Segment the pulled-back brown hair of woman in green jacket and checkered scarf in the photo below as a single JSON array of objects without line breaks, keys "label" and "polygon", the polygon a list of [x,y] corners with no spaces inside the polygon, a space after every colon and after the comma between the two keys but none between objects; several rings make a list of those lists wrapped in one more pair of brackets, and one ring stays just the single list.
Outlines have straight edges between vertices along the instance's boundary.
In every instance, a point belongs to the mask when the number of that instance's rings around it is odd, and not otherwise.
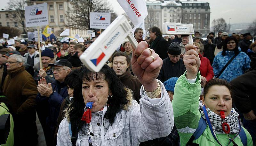
[{"label": "pulled-back brown hair of woman in green jacket and checkered scarf", "polygon": [[230,92],[230,95],[232,97],[232,89],[231,89],[231,84],[226,81],[226,80],[222,80],[222,79],[218,79],[218,78],[215,78],[215,79],[212,79],[212,80],[209,80],[206,85],[204,86],[204,97],[205,95],[208,93],[210,87],[214,86],[214,85],[218,85],[218,86],[225,86],[228,88],[229,92]]}]

